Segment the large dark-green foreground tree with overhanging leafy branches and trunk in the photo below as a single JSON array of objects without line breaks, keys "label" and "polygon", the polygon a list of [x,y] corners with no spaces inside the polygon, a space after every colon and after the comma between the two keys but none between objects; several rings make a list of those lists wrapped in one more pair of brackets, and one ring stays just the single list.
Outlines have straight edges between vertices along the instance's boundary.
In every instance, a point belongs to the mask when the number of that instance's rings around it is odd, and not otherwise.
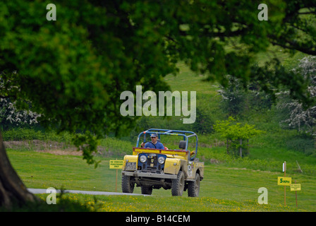
[{"label": "large dark-green foreground tree with overhanging leafy branches and trunk", "polygon": [[[0,97],[20,109],[32,102],[47,127],[85,131],[75,144],[88,163],[97,138],[137,119],[121,116],[121,92],[168,90],[162,78],[176,73],[177,61],[209,81],[225,84],[226,74],[244,83],[271,80],[309,101],[302,79],[279,61],[252,65],[269,44],[316,54],[315,29],[303,18],[315,22],[312,0],[267,1],[268,21],[257,19],[260,1],[54,1],[56,20],[47,20],[46,4],[0,2]],[[13,172],[0,139],[0,205],[34,199]]]}]

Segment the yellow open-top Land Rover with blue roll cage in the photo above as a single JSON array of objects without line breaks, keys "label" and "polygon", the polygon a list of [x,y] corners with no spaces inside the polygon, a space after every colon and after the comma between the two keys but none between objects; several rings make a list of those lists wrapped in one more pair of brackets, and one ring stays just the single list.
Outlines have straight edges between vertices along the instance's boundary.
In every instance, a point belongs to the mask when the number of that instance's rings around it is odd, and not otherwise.
[{"label": "yellow open-top Land Rover with blue roll cage", "polygon": [[[156,133],[158,141],[162,136],[178,136],[179,149],[166,150],[141,148],[140,137],[146,143],[146,136]],[[195,150],[188,150],[188,142],[195,138]],[[180,141],[181,140],[181,141]],[[172,196],[195,197],[200,192],[200,181],[204,177],[204,162],[197,155],[197,135],[192,131],[148,129],[138,135],[133,155],[125,155],[122,170],[122,191],[133,193],[134,186],[140,186],[142,194],[152,194],[152,189],[171,189]],[[163,142],[162,142],[163,143]]]}]

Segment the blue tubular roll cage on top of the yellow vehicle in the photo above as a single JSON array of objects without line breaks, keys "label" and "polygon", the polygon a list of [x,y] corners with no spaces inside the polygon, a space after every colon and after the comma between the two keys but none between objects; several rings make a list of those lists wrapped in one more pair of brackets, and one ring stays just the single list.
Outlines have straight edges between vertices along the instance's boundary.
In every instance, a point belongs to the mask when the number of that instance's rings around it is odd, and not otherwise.
[{"label": "blue tubular roll cage on top of the yellow vehicle", "polygon": [[138,148],[138,145],[140,144],[140,136],[144,135],[143,142],[144,143],[146,142],[147,133],[149,133],[149,134],[156,133],[158,135],[159,139],[160,139],[161,135],[182,136],[183,141],[186,141],[186,148],[185,148],[186,151],[188,151],[188,138],[195,136],[195,138],[196,138],[195,154],[192,157],[190,157],[190,160],[194,160],[195,156],[197,155],[198,138],[197,138],[197,135],[192,131],[181,131],[181,130],[171,130],[171,129],[147,129],[146,131],[142,131],[141,133],[138,134],[136,148]]}]

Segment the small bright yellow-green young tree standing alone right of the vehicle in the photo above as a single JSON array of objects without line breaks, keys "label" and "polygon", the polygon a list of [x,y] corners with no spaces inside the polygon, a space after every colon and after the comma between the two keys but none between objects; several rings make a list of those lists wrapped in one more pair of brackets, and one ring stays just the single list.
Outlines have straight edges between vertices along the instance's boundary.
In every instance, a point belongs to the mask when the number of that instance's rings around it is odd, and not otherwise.
[{"label": "small bright yellow-green young tree standing alone right of the vehicle", "polygon": [[232,155],[239,155],[240,157],[245,155],[243,149],[248,150],[249,139],[263,133],[263,131],[255,129],[254,125],[242,125],[241,123],[237,123],[233,117],[229,117],[227,120],[217,121],[217,123],[214,124],[214,130],[226,140],[227,154],[229,154],[229,150],[231,150]]}]

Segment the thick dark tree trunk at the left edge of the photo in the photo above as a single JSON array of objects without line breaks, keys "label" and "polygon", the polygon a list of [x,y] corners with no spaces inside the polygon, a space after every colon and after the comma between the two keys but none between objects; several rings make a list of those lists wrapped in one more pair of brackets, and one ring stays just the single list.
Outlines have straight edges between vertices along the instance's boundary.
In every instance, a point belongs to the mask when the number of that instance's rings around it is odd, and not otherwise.
[{"label": "thick dark tree trunk at the left edge of the photo", "polygon": [[0,131],[0,206],[10,208],[13,202],[23,205],[26,201],[35,201],[35,199],[8,160]]}]

